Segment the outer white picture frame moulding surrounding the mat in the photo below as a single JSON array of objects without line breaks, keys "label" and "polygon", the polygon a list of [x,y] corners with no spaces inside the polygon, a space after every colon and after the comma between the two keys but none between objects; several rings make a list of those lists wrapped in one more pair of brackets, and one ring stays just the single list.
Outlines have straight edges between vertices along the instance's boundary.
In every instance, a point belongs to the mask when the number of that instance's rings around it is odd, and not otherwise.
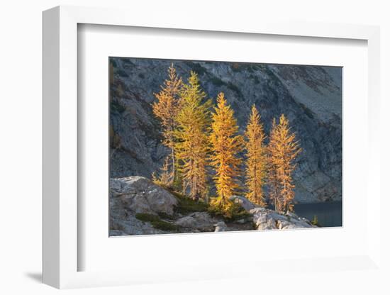
[{"label": "outer white picture frame moulding surrounding the mat", "polygon": [[[340,269],[379,269],[380,271],[380,191],[379,191],[379,28],[375,26],[332,23],[270,23],[245,21],[232,23],[228,19],[199,22],[195,16],[186,16],[167,24],[166,16],[153,13],[145,18],[143,13],[131,13],[122,9],[97,9],[76,6],[58,6],[43,13],[43,282],[57,288],[84,286],[111,286],[140,282],[171,282],[188,279],[218,279],[250,275],[250,270],[274,269],[285,264],[270,257],[264,260],[234,262],[226,272],[226,265],[191,265],[180,272],[166,271],[157,265],[153,272],[145,267],[126,270],[79,271],[78,260],[82,249],[78,247],[77,179],[78,120],[77,109],[77,26],[81,23],[109,26],[166,28],[235,32],[267,35],[291,35],[310,38],[342,38],[367,41],[368,46],[368,152],[367,191],[367,247],[360,255],[339,257],[296,257],[286,269],[301,271],[316,263],[329,271]],[[102,217],[104,218],[104,217]],[[196,235],[195,235],[196,236]],[[107,237],[108,238],[108,237]],[[340,267],[342,265],[342,267]],[[160,274],[160,275],[158,275]],[[197,274],[197,275],[194,275]]]}]

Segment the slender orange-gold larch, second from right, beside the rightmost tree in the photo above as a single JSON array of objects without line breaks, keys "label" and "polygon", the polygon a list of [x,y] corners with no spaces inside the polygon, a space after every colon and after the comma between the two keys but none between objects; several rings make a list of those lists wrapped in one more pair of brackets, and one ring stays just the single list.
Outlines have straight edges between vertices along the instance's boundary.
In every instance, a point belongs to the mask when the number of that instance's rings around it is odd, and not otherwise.
[{"label": "slender orange-gold larch, second from right, beside the rightmost tree", "polygon": [[264,139],[264,128],[260,121],[260,114],[255,105],[253,105],[245,130],[245,149],[247,157],[245,184],[247,186],[247,199],[260,206],[266,206],[262,189],[267,167]]}]

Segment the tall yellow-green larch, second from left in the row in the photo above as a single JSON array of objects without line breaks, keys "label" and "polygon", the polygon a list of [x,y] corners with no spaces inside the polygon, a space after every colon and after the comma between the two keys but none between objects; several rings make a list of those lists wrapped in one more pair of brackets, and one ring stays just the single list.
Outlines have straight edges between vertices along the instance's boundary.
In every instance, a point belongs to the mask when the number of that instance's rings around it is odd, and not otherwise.
[{"label": "tall yellow-green larch, second from left in the row", "polygon": [[201,89],[198,75],[190,73],[180,91],[181,108],[177,114],[175,149],[182,177],[182,190],[191,199],[205,199],[208,165],[208,132],[211,100]]}]

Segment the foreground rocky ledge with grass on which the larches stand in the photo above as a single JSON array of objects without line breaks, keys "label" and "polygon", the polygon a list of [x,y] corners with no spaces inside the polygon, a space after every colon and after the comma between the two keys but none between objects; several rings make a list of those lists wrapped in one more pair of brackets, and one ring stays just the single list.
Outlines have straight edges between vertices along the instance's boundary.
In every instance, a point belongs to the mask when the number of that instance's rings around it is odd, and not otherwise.
[{"label": "foreground rocky ledge with grass on which the larches stand", "polygon": [[208,213],[206,204],[171,194],[145,177],[111,179],[109,235],[314,227],[305,218],[257,207],[242,196],[233,196],[232,200],[243,208],[243,213],[226,221]]}]

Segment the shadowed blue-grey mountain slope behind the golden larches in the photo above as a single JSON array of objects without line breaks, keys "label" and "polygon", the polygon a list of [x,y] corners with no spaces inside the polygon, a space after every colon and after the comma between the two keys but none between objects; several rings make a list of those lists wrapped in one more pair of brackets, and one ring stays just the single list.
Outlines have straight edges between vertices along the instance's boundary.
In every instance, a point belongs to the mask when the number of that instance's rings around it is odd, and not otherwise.
[{"label": "shadowed blue-grey mountain slope behind the golden larches", "polygon": [[303,152],[294,173],[296,201],[341,199],[341,68],[189,62],[111,57],[111,177],[150,177],[167,155],[152,114],[154,92],[174,63],[184,81],[193,70],[212,99],[225,92],[243,132],[255,104],[266,132],[286,115]]}]

